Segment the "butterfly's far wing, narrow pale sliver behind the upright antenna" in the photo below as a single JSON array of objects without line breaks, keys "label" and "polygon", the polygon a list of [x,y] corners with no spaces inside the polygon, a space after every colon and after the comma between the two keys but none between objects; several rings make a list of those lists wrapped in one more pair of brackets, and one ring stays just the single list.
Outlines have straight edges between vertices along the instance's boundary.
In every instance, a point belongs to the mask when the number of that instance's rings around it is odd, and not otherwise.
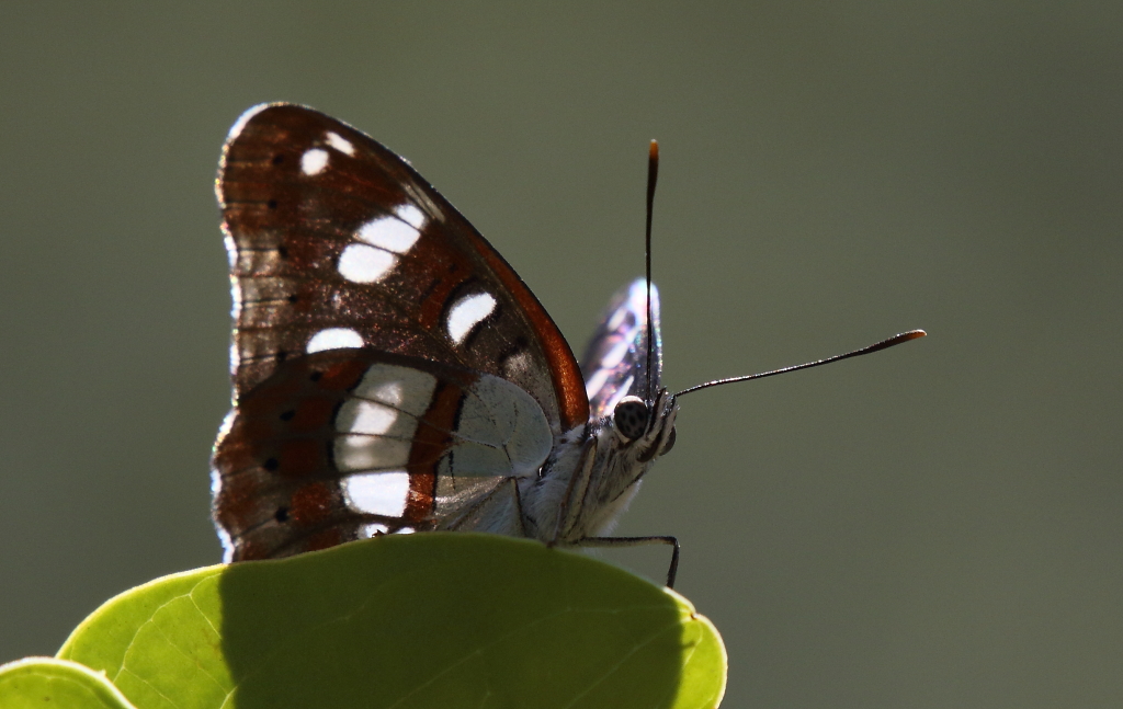
[{"label": "butterfly's far wing, narrow pale sliver behind the upright antenna", "polygon": [[582,359],[585,390],[593,417],[609,416],[626,396],[651,402],[663,374],[663,338],[659,334],[659,291],[651,284],[655,349],[651,377],[647,377],[647,280],[637,278],[609,302],[601,324]]}]

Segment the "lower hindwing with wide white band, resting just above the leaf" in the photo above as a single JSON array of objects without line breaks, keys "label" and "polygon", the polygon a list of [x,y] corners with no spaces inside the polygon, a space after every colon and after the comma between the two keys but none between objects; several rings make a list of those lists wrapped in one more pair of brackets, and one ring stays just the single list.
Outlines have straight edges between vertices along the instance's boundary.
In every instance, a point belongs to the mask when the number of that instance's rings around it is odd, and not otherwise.
[{"label": "lower hindwing with wide white band, resting just above the leaf", "polygon": [[227,561],[423,531],[553,445],[520,387],[369,348],[291,358],[241,395],[216,444],[214,518]]}]

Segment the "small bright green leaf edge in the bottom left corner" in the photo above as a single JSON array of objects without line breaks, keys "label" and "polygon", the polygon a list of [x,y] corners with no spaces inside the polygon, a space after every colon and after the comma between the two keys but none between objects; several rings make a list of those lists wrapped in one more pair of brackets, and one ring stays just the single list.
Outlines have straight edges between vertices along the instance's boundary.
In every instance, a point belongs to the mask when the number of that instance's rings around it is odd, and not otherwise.
[{"label": "small bright green leaf edge in the bottom left corner", "polygon": [[133,709],[103,674],[54,657],[28,657],[0,665],[0,707]]}]

